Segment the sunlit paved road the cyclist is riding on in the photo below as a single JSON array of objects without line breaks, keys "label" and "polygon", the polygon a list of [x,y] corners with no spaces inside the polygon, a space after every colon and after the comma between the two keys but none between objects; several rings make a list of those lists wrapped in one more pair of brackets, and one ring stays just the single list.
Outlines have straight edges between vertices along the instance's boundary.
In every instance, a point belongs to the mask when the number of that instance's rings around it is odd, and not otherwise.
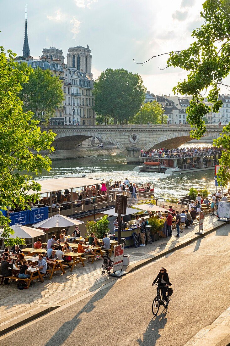
[{"label": "sunlit paved road the cyclist is riding on", "polygon": [[[229,307],[229,231],[221,227],[2,342],[24,345],[29,337],[33,346],[184,345]],[[151,282],[161,266],[168,270],[174,294],[167,311],[160,307],[153,317]]]}]

